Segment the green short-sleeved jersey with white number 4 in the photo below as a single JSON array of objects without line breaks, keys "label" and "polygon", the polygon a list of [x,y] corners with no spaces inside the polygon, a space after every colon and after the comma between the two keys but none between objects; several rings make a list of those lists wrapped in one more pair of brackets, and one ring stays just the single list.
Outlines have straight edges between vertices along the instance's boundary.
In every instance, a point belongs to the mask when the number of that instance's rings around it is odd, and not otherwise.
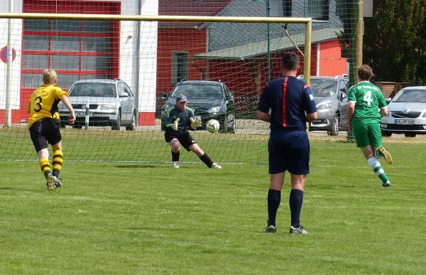
[{"label": "green short-sleeved jersey with white number 4", "polygon": [[349,89],[348,102],[355,102],[352,126],[379,123],[378,109],[386,107],[382,91],[371,82],[362,81]]}]

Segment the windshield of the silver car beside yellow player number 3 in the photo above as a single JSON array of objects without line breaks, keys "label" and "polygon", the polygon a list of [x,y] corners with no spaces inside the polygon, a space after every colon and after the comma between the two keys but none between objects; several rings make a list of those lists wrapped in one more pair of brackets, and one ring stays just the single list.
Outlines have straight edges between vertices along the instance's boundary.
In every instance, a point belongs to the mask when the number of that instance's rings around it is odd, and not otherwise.
[{"label": "windshield of the silver car beside yellow player number 3", "polygon": [[115,85],[102,82],[76,83],[72,86],[70,97],[116,97]]}]

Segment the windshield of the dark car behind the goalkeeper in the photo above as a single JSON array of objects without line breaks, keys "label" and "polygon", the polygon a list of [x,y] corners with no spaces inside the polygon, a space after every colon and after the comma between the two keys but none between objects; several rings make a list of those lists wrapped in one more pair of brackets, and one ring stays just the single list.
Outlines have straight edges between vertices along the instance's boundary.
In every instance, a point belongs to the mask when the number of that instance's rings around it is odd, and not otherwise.
[{"label": "windshield of the dark car behind the goalkeeper", "polygon": [[179,94],[185,95],[188,99],[223,98],[223,92],[220,85],[180,84],[175,87],[171,97],[177,97]]}]

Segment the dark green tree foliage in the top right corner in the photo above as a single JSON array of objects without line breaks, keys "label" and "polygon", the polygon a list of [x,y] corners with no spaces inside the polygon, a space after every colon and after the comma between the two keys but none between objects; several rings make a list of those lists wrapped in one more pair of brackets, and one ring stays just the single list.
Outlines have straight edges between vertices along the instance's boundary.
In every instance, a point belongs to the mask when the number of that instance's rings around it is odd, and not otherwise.
[{"label": "dark green tree foliage in the top right corner", "polygon": [[426,82],[426,0],[374,0],[364,18],[364,63],[375,81]]}]

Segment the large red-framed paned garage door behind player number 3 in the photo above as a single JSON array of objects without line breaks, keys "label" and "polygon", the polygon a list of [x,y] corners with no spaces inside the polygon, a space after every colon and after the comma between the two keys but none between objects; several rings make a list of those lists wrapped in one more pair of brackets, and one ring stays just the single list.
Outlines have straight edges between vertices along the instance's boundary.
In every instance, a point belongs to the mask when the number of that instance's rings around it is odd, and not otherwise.
[{"label": "large red-framed paned garage door behind player number 3", "polygon": [[58,86],[65,90],[80,78],[116,77],[118,70],[111,69],[118,58],[114,24],[118,26],[110,21],[25,19],[23,87],[37,88],[33,75],[45,68],[57,70]]}]

